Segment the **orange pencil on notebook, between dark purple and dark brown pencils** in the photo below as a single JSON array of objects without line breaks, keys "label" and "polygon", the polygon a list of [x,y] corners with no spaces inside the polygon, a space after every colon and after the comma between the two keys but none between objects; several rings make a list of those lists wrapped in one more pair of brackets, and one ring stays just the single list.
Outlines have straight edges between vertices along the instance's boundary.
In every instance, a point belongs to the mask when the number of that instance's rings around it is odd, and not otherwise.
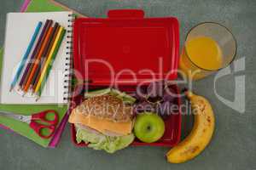
[{"label": "orange pencil on notebook, between dark purple and dark brown pencils", "polygon": [[42,47],[40,48],[39,53],[38,53],[38,56],[37,56],[37,58],[36,58],[36,60],[35,60],[35,64],[34,64],[33,67],[32,67],[32,71],[30,72],[30,75],[29,75],[29,77],[27,78],[26,84],[25,84],[25,86],[24,86],[24,88],[23,88],[23,91],[24,91],[25,93],[27,92],[28,88],[30,87],[30,84],[31,84],[31,82],[32,82],[32,77],[35,76],[35,75],[34,75],[34,74],[35,74],[35,71],[36,71],[37,68],[38,68],[40,59],[41,59],[42,54],[43,54],[43,52],[44,52],[44,48],[45,48],[47,42],[49,41],[49,36],[50,36],[50,34],[51,34],[52,31],[53,31],[53,27],[50,26],[50,27],[49,27],[49,31],[46,33],[46,37],[45,37],[45,39],[44,39],[44,42],[43,42],[43,44],[42,44]]}]

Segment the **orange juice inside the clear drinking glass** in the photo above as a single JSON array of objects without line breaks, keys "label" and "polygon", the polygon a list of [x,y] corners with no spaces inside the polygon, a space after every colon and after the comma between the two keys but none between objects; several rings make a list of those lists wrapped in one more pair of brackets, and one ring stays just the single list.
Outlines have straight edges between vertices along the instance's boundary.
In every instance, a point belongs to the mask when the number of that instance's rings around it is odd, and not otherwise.
[{"label": "orange juice inside the clear drinking glass", "polygon": [[190,78],[200,79],[222,67],[223,56],[218,42],[211,37],[195,37],[185,43],[179,68]]}]

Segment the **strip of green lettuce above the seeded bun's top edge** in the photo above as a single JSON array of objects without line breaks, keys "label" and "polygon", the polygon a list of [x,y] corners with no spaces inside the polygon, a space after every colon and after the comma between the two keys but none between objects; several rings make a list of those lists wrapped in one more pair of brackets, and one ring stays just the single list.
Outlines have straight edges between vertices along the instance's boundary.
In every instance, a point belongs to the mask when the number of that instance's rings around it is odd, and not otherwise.
[{"label": "strip of green lettuce above the seeded bun's top edge", "polygon": [[133,104],[136,101],[136,99],[131,97],[131,95],[125,94],[125,92],[120,92],[119,90],[114,88],[94,90],[94,91],[85,93],[84,97],[91,98],[91,97],[101,96],[104,94],[113,95],[119,99],[122,99],[125,104]]}]

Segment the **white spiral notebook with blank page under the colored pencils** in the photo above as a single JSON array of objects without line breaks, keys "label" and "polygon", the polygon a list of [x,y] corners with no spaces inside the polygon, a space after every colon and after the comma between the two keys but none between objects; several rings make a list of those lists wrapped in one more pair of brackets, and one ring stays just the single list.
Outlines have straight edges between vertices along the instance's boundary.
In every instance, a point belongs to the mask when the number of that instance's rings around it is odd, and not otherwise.
[{"label": "white spiral notebook with blank page under the colored pencils", "polygon": [[[50,70],[47,82],[45,83],[41,98],[36,101],[35,96],[30,93],[23,97],[22,92],[18,89],[18,85],[16,85],[11,92],[9,92],[9,88],[13,77],[15,77],[15,69],[17,69],[23,54],[26,52],[26,48],[31,40],[35,27],[39,21],[42,21],[44,24],[47,19],[58,22],[66,29],[66,34],[55,57],[54,64]],[[0,82],[1,104],[67,103],[72,54],[72,23],[73,14],[71,12],[7,14],[2,75]],[[34,43],[34,45],[35,44],[36,43]],[[32,51],[30,55],[31,54]],[[30,55],[28,56],[28,59],[30,58]],[[24,70],[25,69],[22,71]],[[21,73],[21,76],[22,74],[23,73]],[[20,82],[20,80],[18,82]]]}]

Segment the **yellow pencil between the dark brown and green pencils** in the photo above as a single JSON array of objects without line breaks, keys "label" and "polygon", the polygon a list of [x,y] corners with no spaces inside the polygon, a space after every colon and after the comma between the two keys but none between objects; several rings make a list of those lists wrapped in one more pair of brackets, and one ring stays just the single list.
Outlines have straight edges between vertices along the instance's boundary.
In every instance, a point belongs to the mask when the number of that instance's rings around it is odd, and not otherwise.
[{"label": "yellow pencil between the dark brown and green pencils", "polygon": [[40,78],[39,78],[39,80],[38,80],[37,87],[35,88],[35,93],[36,93],[36,94],[38,93],[38,90],[39,90],[39,88],[40,88],[40,86],[41,86],[41,83],[42,83],[43,80],[44,80],[44,76],[45,76],[46,71],[47,71],[47,68],[48,68],[48,66],[49,66],[49,64],[50,64],[51,58],[53,57],[53,54],[54,54],[54,51],[55,51],[57,42],[58,42],[58,40],[59,40],[60,37],[61,37],[61,31],[62,31],[63,29],[64,29],[64,28],[61,26],[61,28],[59,29],[58,34],[57,34],[57,36],[56,36],[56,38],[55,38],[55,42],[54,42],[52,48],[50,49],[49,56],[48,56],[48,58],[47,58],[47,60],[46,60],[46,62],[45,62],[44,69],[43,69],[43,71],[42,71],[42,73],[41,73],[41,75],[40,75]]}]

